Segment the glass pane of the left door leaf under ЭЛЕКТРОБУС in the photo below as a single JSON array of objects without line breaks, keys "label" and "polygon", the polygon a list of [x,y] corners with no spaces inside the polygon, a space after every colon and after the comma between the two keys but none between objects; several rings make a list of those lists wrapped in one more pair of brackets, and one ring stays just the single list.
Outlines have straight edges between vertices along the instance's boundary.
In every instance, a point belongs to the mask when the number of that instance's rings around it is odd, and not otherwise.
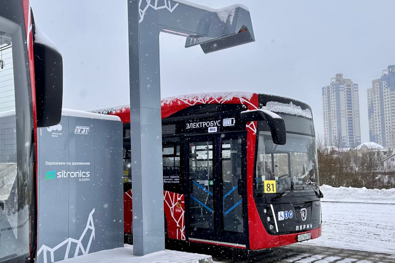
[{"label": "glass pane of the left door leaf under \u042d\u041b\u0415\u041a\u0422\u0420\u041e\u0411\u0423\u0421", "polygon": [[189,143],[190,226],[214,230],[213,143]]}]

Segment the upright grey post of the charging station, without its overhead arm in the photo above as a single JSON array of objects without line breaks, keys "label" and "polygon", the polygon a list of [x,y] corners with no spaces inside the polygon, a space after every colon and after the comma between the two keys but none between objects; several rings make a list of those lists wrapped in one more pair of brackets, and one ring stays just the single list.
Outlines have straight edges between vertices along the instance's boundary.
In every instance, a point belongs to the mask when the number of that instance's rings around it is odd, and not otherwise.
[{"label": "upright grey post of the charging station, without its overhead arm", "polygon": [[158,15],[128,1],[133,254],[164,250]]}]

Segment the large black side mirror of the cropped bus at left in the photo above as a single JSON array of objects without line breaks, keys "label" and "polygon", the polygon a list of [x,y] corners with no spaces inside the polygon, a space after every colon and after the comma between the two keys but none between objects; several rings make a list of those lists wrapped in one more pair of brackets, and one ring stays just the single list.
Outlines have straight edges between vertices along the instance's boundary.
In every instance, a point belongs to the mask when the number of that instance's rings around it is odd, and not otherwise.
[{"label": "large black side mirror of the cropped bus at left", "polygon": [[33,43],[37,127],[59,124],[63,100],[63,59],[55,49]]}]

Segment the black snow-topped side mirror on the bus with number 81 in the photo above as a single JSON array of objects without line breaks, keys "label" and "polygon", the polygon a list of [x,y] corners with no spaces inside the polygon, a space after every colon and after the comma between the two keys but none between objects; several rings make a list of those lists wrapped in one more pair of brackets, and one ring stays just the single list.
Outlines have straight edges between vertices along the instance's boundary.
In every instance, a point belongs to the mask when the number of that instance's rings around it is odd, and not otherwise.
[{"label": "black snow-topped side mirror on the bus with number 81", "polygon": [[284,120],[277,115],[266,110],[252,110],[240,113],[242,121],[266,121],[270,127],[274,144],[284,145],[286,143],[286,129]]}]

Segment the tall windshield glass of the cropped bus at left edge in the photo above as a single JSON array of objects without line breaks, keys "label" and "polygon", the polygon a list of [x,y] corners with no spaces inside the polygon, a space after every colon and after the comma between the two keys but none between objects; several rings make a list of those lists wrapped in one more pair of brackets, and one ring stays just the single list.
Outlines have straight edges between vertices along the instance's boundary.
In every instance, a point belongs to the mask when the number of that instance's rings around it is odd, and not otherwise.
[{"label": "tall windshield glass of the cropped bus at left edge", "polygon": [[12,262],[29,255],[33,231],[33,118],[24,34],[25,28],[0,16],[0,258]]}]

